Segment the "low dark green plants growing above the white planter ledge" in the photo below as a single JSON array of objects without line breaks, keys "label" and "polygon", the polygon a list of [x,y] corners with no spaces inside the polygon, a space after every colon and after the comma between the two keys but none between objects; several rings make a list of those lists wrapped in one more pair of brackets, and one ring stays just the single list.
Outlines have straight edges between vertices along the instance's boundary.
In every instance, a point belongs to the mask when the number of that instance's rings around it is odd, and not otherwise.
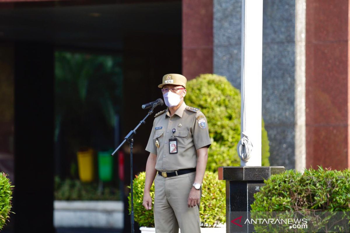
[{"label": "low dark green plants growing above the white planter ledge", "polygon": [[99,190],[97,183],[83,183],[80,180],[66,179],[61,181],[55,177],[55,199],[64,201],[119,201],[119,190],[104,187]]}]

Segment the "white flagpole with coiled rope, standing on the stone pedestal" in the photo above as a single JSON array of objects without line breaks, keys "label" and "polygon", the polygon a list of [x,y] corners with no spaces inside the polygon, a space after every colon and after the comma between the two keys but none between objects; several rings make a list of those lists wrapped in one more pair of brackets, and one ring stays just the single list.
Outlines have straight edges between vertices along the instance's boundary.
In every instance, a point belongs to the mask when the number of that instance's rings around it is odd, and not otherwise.
[{"label": "white flagpole with coiled rope, standing on the stone pedestal", "polygon": [[241,166],[261,166],[262,10],[263,0],[242,0]]}]

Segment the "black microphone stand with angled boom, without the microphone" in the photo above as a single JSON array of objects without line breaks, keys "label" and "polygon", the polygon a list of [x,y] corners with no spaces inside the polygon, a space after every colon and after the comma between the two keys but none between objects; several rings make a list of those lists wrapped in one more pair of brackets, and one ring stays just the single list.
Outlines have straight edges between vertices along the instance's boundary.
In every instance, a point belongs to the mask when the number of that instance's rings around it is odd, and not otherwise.
[{"label": "black microphone stand with angled boom, without the microphone", "polygon": [[144,119],[142,119],[142,121],[140,121],[140,123],[135,127],[135,129],[131,130],[124,138],[124,140],[120,143],[120,145],[117,147],[116,150],[113,151],[113,153],[111,154],[112,156],[120,149],[121,146],[124,145],[124,143],[127,141],[128,143],[130,143],[130,186],[131,186],[131,233],[134,233],[134,202],[133,202],[133,155],[132,155],[132,148],[134,145],[134,139],[133,136],[134,134],[136,134],[136,130],[140,127],[140,125],[145,124],[145,120],[147,117],[149,117],[149,115],[151,115],[153,113],[153,109],[157,106],[158,104],[154,104],[153,107],[151,108],[151,110],[148,111],[148,114],[145,116]]}]

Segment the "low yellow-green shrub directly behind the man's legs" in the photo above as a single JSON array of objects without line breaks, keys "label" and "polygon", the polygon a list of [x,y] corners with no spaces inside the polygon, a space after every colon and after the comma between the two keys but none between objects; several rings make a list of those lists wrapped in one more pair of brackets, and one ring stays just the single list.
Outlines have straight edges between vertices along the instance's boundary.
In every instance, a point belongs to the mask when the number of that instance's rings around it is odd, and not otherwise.
[{"label": "low yellow-green shrub directly behind the man's legs", "polygon": [[[203,179],[202,198],[200,204],[200,218],[202,227],[215,227],[217,224],[225,223],[225,182],[217,179],[217,173],[205,172]],[[154,227],[153,204],[152,210],[146,210],[142,205],[144,198],[146,173],[141,172],[134,179],[134,218],[139,226]],[[129,186],[130,188],[130,186]],[[152,184],[150,195],[154,201],[154,184]],[[131,213],[131,192],[129,199],[129,213]]]}]

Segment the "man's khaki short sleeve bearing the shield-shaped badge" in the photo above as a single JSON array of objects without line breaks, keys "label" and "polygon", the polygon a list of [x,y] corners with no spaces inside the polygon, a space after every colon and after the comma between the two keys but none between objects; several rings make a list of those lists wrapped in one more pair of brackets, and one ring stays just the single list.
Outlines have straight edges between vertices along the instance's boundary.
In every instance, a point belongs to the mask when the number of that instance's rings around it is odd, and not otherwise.
[{"label": "man's khaki short sleeve bearing the shield-shaped badge", "polygon": [[211,141],[209,137],[207,118],[202,112],[197,112],[196,120],[193,130],[193,142],[196,150],[204,146],[210,146]]}]

